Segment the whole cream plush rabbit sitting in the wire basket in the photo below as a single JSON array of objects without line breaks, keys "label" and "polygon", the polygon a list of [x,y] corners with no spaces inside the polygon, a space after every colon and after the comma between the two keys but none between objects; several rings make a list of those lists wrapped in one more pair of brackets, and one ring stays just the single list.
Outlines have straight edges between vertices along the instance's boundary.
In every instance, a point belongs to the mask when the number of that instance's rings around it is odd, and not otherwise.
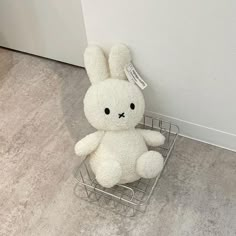
[{"label": "whole cream plush rabbit sitting in the wire basket", "polygon": [[124,73],[131,61],[129,49],[123,44],[112,47],[110,70],[98,46],[89,46],[84,60],[92,83],[84,98],[84,112],[98,131],[75,145],[76,154],[89,155],[96,180],[106,188],[157,176],[163,168],[163,157],[148,151],[147,145],[162,145],[165,137],[135,128],[143,117],[145,102],[140,89]]}]

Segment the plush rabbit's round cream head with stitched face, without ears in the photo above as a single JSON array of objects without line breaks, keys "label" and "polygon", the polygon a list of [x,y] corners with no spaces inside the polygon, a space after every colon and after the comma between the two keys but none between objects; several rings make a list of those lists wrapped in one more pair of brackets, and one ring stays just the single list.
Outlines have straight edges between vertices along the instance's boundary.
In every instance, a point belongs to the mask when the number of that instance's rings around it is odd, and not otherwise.
[{"label": "plush rabbit's round cream head with stitched face, without ears", "polygon": [[[130,108],[131,103],[135,109]],[[125,80],[107,79],[92,85],[84,98],[84,112],[98,130],[124,130],[134,127],[144,113],[144,99],[139,88]],[[105,109],[110,113],[106,114]],[[124,117],[120,115],[124,113]]]}]

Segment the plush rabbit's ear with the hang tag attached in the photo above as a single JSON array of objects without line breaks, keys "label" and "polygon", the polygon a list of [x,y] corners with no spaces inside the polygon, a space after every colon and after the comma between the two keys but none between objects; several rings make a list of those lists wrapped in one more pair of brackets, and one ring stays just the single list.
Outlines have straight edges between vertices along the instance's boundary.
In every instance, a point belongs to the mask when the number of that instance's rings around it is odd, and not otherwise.
[{"label": "plush rabbit's ear with the hang tag attached", "polygon": [[124,44],[116,44],[111,48],[109,55],[109,67],[111,77],[117,79],[127,79],[124,68],[131,62],[129,48]]}]

